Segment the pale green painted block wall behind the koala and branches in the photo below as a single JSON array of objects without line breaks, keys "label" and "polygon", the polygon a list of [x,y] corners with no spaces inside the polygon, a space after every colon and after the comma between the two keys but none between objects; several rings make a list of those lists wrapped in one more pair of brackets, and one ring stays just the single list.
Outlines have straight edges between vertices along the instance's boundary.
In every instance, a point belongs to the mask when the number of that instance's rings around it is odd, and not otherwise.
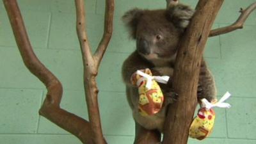
[{"label": "pale green painted block wall behind the koala and branches", "polygon": [[[197,1],[184,0],[195,6]],[[236,20],[239,8],[255,0],[226,0],[214,28]],[[87,118],[83,92],[83,67],[75,28],[72,0],[19,0],[36,55],[63,84],[61,107]],[[98,76],[102,127],[112,144],[131,144],[134,122],[125,100],[120,67],[134,50],[120,17],[138,8],[164,8],[164,0],[116,0],[113,38]],[[104,0],[86,1],[88,36],[93,49],[102,35]],[[216,109],[214,132],[204,141],[189,144],[256,143],[256,12],[244,29],[209,38],[205,58],[216,77],[218,95],[227,90],[231,109]],[[78,144],[77,138],[38,115],[45,87],[24,67],[13,39],[3,2],[0,2],[0,143]]]}]

